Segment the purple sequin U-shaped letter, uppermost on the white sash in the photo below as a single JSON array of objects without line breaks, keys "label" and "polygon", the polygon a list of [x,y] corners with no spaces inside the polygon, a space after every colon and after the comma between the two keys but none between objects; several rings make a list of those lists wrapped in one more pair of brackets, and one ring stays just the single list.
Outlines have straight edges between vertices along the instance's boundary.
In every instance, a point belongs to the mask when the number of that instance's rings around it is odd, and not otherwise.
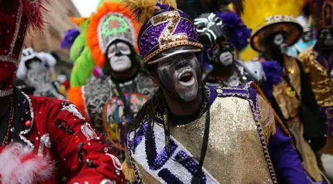
[{"label": "purple sequin U-shaped letter, uppermost on the white sash", "polygon": [[[147,129],[147,135],[150,135],[150,130]],[[149,141],[149,144],[148,144]],[[150,146],[148,148],[148,145]],[[146,139],[146,155],[148,160],[148,166],[151,170],[160,169],[167,161],[174,151],[176,151],[178,145],[173,140],[169,140],[169,154],[167,153],[167,149],[164,147],[160,154],[157,154],[156,142],[155,142],[155,134],[153,132],[153,138]]]}]

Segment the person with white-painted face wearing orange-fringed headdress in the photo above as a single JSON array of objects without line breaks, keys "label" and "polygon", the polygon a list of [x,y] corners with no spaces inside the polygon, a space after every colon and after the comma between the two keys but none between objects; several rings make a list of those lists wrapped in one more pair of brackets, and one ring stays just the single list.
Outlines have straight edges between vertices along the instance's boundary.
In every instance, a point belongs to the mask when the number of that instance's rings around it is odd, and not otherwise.
[{"label": "person with white-painted face wearing orange-fringed headdress", "polygon": [[105,133],[121,159],[125,158],[123,127],[157,89],[150,77],[139,71],[136,37],[140,26],[133,18],[123,3],[110,1],[92,15],[87,46],[105,76],[68,93],[69,101],[85,111],[96,129]]}]

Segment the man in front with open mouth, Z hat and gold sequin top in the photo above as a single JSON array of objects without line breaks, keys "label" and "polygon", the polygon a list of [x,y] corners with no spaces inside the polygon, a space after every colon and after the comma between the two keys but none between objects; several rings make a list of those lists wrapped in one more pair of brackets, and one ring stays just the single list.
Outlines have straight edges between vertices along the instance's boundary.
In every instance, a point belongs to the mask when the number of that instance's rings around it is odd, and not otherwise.
[{"label": "man in front with open mouth, Z hat and gold sequin top", "polygon": [[255,84],[202,84],[203,46],[193,21],[174,1],[125,2],[144,22],[139,53],[160,86],[128,126],[126,179],[307,183],[287,129]]}]

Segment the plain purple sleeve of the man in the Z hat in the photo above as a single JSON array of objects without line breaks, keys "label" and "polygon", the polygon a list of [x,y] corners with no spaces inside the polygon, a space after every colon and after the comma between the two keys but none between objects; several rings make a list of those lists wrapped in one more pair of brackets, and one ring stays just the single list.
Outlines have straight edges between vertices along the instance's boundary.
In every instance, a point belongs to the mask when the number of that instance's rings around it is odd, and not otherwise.
[{"label": "plain purple sleeve of the man in the Z hat", "polygon": [[275,127],[276,133],[269,140],[268,152],[279,183],[309,183],[291,138],[285,136],[278,126]]}]

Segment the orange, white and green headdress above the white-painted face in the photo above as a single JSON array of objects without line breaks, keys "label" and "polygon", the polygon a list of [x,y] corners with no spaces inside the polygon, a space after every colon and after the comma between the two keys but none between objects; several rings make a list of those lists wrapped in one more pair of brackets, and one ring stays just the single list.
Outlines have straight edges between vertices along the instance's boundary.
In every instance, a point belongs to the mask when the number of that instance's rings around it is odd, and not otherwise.
[{"label": "orange, white and green headdress above the white-painted face", "polygon": [[71,59],[75,61],[71,87],[84,85],[95,66],[105,68],[105,50],[115,40],[128,42],[138,50],[136,38],[140,26],[119,0],[103,1],[91,17],[80,21],[80,35],[71,46]]}]

